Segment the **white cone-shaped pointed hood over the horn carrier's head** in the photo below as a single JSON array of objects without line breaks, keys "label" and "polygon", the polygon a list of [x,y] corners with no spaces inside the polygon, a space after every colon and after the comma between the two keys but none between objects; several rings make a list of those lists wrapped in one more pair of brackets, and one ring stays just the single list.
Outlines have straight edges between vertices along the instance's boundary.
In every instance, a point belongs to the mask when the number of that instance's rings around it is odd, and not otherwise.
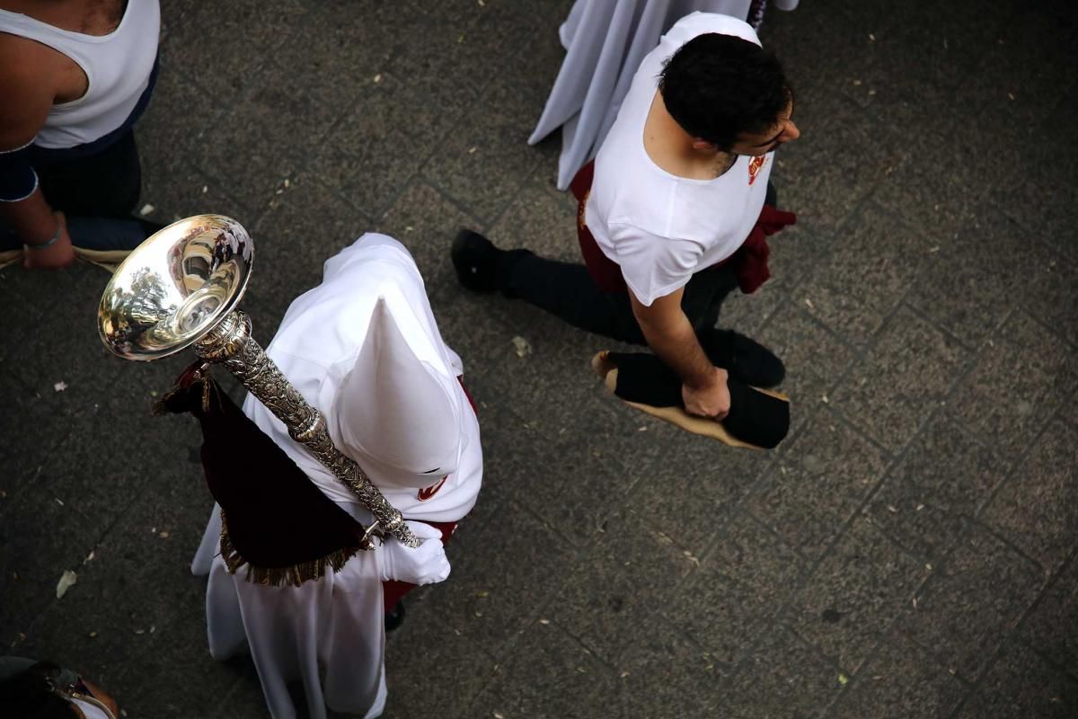
[{"label": "white cone-shaped pointed hood over the horn carrier's head", "polygon": [[[420,360],[404,333],[415,331],[410,307],[399,319],[385,296],[374,303],[367,336],[329,410],[333,441],[384,481],[416,489],[457,469],[457,390]],[[403,326],[403,328],[402,328]]]}]

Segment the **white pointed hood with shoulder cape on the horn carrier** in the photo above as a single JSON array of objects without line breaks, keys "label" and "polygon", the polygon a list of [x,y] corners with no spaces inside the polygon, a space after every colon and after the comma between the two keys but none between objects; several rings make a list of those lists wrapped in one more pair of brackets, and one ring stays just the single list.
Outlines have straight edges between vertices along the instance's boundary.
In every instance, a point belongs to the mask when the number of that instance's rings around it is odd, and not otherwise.
[{"label": "white pointed hood with shoulder cape on the horn carrier", "polygon": [[[369,233],[327,260],[322,282],[295,299],[266,351],[326,415],[334,444],[409,517],[448,521],[474,503],[482,455],[460,358],[400,243]],[[327,496],[355,500],[261,402],[248,398],[244,411]]]}]

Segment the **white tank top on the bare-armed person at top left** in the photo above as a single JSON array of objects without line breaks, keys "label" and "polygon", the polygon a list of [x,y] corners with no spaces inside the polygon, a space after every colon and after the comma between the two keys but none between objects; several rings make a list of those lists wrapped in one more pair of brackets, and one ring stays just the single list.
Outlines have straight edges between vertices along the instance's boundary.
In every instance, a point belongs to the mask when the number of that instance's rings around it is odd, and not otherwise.
[{"label": "white tank top on the bare-armed person at top left", "polygon": [[22,13],[0,10],[0,32],[36,40],[64,53],[86,73],[86,94],[54,105],[33,143],[73,148],[108,135],[135,109],[157,57],[157,0],[127,0],[123,19],[105,36],[61,30]]}]

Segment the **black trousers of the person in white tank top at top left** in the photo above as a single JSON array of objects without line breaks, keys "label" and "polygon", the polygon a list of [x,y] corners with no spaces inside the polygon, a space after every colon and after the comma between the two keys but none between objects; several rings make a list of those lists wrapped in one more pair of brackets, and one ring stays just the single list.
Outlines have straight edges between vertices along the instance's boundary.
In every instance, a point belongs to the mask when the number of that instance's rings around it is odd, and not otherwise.
[{"label": "black trousers of the person in white tank top at top left", "polygon": [[34,170],[45,199],[65,215],[129,219],[138,207],[142,168],[134,130],[97,154]]}]

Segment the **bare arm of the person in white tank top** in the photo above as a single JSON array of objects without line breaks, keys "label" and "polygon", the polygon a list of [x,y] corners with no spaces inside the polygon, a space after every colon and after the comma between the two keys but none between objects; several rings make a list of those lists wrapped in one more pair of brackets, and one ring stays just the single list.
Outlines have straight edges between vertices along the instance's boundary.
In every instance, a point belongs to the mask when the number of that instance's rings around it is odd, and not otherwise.
[{"label": "bare arm of the person in white tank top", "polygon": [[[36,44],[0,36],[0,67],[4,68],[0,73],[0,97],[4,98],[0,103],[0,152],[4,154],[31,142],[52,108],[51,59],[32,46]],[[63,216],[53,212],[40,189],[16,202],[0,202],[0,219],[31,247],[26,254],[27,266],[61,267],[74,259]],[[57,232],[57,241],[32,249]]]}]

